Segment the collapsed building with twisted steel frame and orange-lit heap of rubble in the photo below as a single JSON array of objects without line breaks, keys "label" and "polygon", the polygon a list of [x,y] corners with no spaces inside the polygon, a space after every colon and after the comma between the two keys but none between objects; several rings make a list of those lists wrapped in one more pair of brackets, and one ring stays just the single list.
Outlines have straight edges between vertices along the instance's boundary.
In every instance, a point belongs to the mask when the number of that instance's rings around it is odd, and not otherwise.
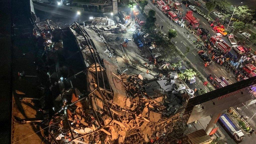
[{"label": "collapsed building with twisted steel frame and orange-lit heap of rubble", "polygon": [[182,114],[187,97],[174,90],[174,80],[118,72],[111,49],[95,28],[77,22],[66,29],[53,25],[42,21],[34,30],[47,45],[41,51],[48,63],[55,65],[48,69],[50,143],[176,143],[186,128]]}]

